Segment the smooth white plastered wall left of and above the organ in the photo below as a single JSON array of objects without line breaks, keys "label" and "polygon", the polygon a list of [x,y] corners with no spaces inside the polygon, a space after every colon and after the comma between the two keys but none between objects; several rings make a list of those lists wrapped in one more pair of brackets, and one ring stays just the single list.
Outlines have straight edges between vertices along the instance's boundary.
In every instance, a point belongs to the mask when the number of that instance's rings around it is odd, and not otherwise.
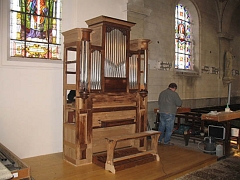
[{"label": "smooth white plastered wall left of and above the organ", "polygon": [[[62,63],[9,61],[8,2],[0,0],[0,143],[20,158],[62,152]],[[62,3],[62,31],[99,15],[127,17],[126,0]]]}]

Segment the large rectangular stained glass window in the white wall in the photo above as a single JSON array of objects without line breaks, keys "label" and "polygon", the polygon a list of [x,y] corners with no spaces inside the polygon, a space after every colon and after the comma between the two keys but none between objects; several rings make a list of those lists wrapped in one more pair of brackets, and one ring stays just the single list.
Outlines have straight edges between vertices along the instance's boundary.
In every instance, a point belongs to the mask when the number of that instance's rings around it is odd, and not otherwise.
[{"label": "large rectangular stained glass window in the white wall", "polygon": [[61,59],[61,0],[10,2],[10,56]]}]

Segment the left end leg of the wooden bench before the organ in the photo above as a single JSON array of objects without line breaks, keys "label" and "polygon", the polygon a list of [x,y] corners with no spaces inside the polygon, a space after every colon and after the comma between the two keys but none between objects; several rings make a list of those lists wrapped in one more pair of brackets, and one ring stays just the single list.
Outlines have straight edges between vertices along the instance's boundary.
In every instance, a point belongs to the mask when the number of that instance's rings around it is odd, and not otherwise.
[{"label": "left end leg of the wooden bench before the organ", "polygon": [[114,149],[116,146],[117,142],[116,141],[108,141],[107,143],[107,160],[105,163],[105,170],[111,171],[113,174],[116,173],[116,169],[114,167]]}]

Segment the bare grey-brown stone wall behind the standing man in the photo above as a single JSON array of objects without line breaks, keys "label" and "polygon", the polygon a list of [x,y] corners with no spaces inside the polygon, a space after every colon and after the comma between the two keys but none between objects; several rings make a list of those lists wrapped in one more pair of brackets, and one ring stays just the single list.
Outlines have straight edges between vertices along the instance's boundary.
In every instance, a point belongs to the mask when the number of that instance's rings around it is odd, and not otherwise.
[{"label": "bare grey-brown stone wall behind the standing man", "polygon": [[[194,70],[178,71],[174,68],[175,6],[183,3],[188,8],[193,23]],[[224,55],[232,47],[234,75],[231,83],[231,104],[240,97],[240,2],[235,0],[129,0],[127,18],[135,22],[131,38],[150,39],[148,73],[148,119],[155,121],[153,109],[157,108],[159,93],[171,82],[178,85],[177,92],[183,106],[199,108],[226,105],[228,84],[223,82]],[[161,69],[160,63],[169,68]],[[208,71],[216,68],[217,72]],[[233,98],[234,96],[234,98]]]}]

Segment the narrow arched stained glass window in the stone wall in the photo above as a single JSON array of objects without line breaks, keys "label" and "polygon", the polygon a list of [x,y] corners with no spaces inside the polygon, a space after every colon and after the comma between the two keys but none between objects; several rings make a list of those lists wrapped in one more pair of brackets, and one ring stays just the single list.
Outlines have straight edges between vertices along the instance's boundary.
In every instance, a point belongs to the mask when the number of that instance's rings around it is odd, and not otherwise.
[{"label": "narrow arched stained glass window in the stone wall", "polygon": [[175,68],[193,68],[190,14],[182,4],[175,9]]}]

